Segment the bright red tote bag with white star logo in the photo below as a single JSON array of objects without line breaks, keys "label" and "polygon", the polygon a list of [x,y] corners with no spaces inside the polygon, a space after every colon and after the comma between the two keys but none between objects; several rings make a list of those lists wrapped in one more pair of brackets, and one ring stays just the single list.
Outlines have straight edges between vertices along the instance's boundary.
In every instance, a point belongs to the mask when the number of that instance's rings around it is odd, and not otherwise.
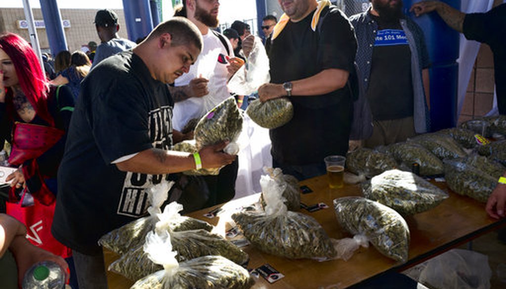
[{"label": "bright red tote bag with white star logo", "polygon": [[33,198],[32,206],[23,207],[23,199],[26,190],[19,203],[6,202],[7,214],[16,218],[19,222],[26,226],[26,238],[35,246],[52,252],[62,258],[72,256],[70,248],[58,242],[51,234],[51,225],[53,225],[53,217],[55,214],[56,202],[50,205],[44,205]]}]

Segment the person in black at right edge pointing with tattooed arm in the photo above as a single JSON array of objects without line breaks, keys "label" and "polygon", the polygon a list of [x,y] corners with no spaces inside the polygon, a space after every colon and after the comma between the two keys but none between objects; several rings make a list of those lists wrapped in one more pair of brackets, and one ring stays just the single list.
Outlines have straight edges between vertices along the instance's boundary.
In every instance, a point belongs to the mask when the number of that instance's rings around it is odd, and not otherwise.
[{"label": "person in black at right edge pointing with tattooed arm", "polygon": [[486,13],[465,14],[439,1],[422,1],[413,4],[410,11],[416,16],[436,11],[439,16],[469,40],[490,46],[494,54],[494,77],[499,114],[506,115],[506,4]]}]

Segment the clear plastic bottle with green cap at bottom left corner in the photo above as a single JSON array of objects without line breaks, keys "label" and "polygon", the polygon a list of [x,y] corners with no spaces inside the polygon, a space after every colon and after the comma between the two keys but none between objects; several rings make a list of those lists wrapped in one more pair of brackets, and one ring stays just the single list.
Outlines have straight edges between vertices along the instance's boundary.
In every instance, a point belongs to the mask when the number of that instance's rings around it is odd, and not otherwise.
[{"label": "clear plastic bottle with green cap at bottom left corner", "polygon": [[23,289],[64,289],[65,272],[52,261],[34,264],[23,277]]}]

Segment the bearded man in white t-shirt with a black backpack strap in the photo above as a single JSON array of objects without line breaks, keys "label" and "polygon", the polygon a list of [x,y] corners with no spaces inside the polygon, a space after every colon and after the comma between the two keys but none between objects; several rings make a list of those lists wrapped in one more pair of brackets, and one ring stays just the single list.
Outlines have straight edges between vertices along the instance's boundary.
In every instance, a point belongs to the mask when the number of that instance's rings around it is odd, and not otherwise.
[{"label": "bearded man in white t-shirt with a black backpack strap", "polygon": [[[173,127],[177,140],[178,131],[186,133],[185,126],[192,119],[200,119],[217,104],[230,97],[228,80],[235,74],[242,61],[234,57],[229,40],[223,34],[210,28],[218,26],[219,1],[184,0],[175,16],[188,18],[203,38],[203,49],[188,73],[183,74],[170,87],[174,99]],[[193,129],[193,128],[191,128]],[[190,130],[191,130],[190,129]],[[189,134],[191,136],[191,133]],[[175,139],[175,142],[177,141]],[[218,176],[204,176],[209,189],[205,207],[231,200],[235,195],[235,179],[238,163],[223,167]]]}]

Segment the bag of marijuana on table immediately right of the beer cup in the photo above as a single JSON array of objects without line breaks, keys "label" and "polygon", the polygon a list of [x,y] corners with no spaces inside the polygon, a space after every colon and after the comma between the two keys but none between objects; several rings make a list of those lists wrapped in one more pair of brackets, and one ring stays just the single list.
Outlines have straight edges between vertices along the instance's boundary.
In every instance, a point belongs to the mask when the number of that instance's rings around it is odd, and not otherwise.
[{"label": "bag of marijuana on table immediately right of the beer cup", "polygon": [[346,156],[346,168],[357,175],[372,177],[395,167],[397,162],[393,157],[371,149],[360,148]]}]

